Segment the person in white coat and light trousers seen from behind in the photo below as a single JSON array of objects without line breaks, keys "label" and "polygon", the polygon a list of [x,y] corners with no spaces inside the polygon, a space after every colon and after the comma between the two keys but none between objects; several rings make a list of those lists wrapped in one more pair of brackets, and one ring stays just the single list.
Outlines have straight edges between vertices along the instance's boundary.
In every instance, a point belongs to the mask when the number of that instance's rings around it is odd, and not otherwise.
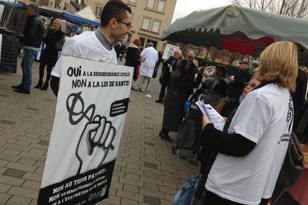
[{"label": "person in white coat and light trousers seen from behind", "polygon": [[132,87],[133,90],[140,90],[144,92],[149,79],[153,75],[153,71],[158,61],[158,52],[153,47],[152,43],[147,44],[147,48],[143,49],[140,53],[141,57],[141,67],[140,74],[137,79],[136,85]]}]

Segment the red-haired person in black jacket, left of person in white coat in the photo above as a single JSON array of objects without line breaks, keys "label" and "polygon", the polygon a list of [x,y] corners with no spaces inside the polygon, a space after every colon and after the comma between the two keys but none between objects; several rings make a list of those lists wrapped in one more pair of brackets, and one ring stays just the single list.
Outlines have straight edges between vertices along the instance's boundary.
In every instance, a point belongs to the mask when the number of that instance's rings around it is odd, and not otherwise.
[{"label": "red-haired person in black jacket, left of person in white coat", "polygon": [[[139,47],[141,42],[139,39],[134,39],[126,50],[125,66],[133,67],[133,79],[137,79],[137,67],[141,63]],[[134,80],[136,81],[136,80]]]}]

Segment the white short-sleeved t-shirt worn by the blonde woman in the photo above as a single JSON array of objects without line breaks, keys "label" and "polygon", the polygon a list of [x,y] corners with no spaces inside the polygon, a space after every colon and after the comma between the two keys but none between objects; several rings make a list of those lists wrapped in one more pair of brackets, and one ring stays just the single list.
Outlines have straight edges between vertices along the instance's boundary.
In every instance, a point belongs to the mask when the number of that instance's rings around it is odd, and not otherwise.
[{"label": "white short-sleeved t-shirt worn by the blonde woman", "polygon": [[287,89],[274,84],[249,93],[239,106],[228,133],[256,142],[243,157],[219,153],[206,189],[238,203],[257,205],[271,198],[293,126],[293,101]]}]

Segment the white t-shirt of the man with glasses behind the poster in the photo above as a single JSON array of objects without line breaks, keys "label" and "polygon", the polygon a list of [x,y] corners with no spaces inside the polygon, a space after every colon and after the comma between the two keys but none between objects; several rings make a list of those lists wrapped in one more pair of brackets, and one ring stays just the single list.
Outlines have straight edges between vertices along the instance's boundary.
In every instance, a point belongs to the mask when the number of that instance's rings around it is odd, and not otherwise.
[{"label": "white t-shirt of the man with glasses behind the poster", "polygon": [[62,55],[87,58],[91,60],[104,61],[105,63],[118,64],[117,53],[114,48],[107,50],[97,38],[94,32],[85,31],[80,35],[66,40],[63,45],[61,56],[51,71],[51,75],[60,77]]}]

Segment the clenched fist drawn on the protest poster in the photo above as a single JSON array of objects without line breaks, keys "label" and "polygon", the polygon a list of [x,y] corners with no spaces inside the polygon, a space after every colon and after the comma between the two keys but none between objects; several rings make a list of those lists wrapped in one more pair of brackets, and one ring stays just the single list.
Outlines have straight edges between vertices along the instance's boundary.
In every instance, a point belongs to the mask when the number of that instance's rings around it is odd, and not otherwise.
[{"label": "clenched fist drawn on the protest poster", "polygon": [[105,116],[95,115],[80,136],[76,156],[80,161],[78,174],[102,165],[109,150],[113,150],[112,141],[115,128]]}]

